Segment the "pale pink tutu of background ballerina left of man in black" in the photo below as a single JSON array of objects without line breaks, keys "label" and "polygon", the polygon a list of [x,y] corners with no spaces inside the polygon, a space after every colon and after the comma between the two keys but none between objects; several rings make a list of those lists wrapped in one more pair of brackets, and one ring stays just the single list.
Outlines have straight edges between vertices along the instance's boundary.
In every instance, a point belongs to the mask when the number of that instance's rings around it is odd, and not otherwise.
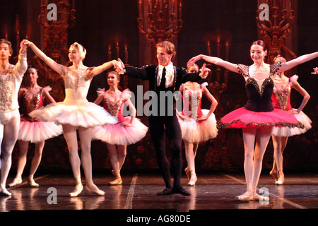
[{"label": "pale pink tutu of background ballerina left of man in black", "polygon": [[[130,121],[131,117],[125,117],[125,121]],[[114,125],[95,126],[93,129],[93,139],[104,141],[110,144],[129,145],[137,143],[146,136],[148,127],[139,119],[134,119],[132,126],[121,126],[120,123]]]}]

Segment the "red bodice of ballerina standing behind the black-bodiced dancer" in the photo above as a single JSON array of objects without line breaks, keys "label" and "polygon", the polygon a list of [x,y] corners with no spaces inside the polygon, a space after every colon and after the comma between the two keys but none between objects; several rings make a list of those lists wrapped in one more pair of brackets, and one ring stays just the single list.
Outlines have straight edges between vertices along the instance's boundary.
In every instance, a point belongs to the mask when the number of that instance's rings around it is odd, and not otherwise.
[{"label": "red bodice of ballerina standing behind the black-bodiced dancer", "polygon": [[289,111],[292,109],[290,105],[290,83],[281,89],[277,85],[274,85],[273,94],[271,100],[273,101],[273,107],[283,109],[284,111]]}]

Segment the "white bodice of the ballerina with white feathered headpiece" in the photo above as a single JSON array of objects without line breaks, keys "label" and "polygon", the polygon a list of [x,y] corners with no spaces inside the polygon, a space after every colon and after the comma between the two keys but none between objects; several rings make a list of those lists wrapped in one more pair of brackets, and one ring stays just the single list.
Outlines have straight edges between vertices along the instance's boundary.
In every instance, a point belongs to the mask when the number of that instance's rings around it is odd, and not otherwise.
[{"label": "white bodice of the ballerina with white feathered headpiece", "polygon": [[90,80],[86,79],[83,74],[73,76],[68,73],[64,76],[65,83],[65,105],[86,105],[88,89],[90,88]]}]

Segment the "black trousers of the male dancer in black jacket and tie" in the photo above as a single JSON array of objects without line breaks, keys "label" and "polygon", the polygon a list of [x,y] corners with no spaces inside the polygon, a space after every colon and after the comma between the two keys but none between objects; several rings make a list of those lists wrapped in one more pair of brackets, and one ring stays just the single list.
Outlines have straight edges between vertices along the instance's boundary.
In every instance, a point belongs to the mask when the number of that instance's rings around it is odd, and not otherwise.
[{"label": "black trousers of the male dancer in black jacket and tie", "polygon": [[[174,112],[175,113],[175,112]],[[157,155],[160,172],[167,188],[172,188],[170,164],[166,155],[165,136],[172,152],[171,167],[174,177],[173,186],[181,186],[182,174],[182,133],[177,116],[149,116],[149,130]]]}]

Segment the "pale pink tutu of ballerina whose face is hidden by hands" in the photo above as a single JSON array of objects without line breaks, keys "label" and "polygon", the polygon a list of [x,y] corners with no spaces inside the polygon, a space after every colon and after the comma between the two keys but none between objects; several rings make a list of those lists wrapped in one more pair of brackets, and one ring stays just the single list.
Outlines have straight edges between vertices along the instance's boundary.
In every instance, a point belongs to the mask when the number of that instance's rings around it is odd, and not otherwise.
[{"label": "pale pink tutu of ballerina whose face is hidden by hands", "polygon": [[[207,109],[201,109],[203,116],[208,114]],[[204,121],[196,121],[192,118],[178,117],[179,125],[182,131],[182,139],[190,143],[199,143],[208,141],[218,136],[218,129],[216,128],[216,117],[211,114],[208,119]]]}]

